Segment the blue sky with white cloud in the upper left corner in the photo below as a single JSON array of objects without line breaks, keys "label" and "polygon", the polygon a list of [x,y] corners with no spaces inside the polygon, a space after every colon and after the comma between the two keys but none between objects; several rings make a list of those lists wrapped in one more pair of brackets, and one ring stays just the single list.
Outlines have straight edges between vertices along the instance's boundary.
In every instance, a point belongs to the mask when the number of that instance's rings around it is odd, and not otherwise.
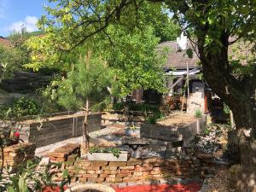
[{"label": "blue sky with white cloud in the upper left corner", "polygon": [[28,32],[38,31],[36,23],[45,15],[44,5],[47,0],[0,0],[0,36],[20,31],[22,26]]}]

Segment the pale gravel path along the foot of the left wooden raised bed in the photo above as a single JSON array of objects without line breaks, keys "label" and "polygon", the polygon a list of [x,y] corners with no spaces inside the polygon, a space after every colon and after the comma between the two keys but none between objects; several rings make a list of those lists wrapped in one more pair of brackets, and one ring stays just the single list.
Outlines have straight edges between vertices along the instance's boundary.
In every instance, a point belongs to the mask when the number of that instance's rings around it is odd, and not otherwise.
[{"label": "pale gravel path along the foot of the left wooden raised bed", "polygon": [[[107,128],[104,128],[100,131],[91,132],[91,133],[89,133],[89,136],[93,140],[93,139],[96,139],[96,137],[101,137],[101,136],[104,136],[104,135],[110,135],[111,133],[114,133],[114,132],[117,132],[117,131],[119,131],[119,128],[107,127]],[[44,154],[52,152],[52,151],[55,150],[55,148],[60,148],[61,146],[65,145],[67,143],[82,143],[82,137],[73,137],[73,138],[70,138],[70,139],[67,139],[67,140],[63,140],[63,141],[58,142],[58,143],[53,143],[53,144],[50,144],[50,145],[47,145],[47,146],[44,146],[44,147],[41,147],[41,148],[37,148],[36,149],[36,155],[38,157],[42,157]]]}]

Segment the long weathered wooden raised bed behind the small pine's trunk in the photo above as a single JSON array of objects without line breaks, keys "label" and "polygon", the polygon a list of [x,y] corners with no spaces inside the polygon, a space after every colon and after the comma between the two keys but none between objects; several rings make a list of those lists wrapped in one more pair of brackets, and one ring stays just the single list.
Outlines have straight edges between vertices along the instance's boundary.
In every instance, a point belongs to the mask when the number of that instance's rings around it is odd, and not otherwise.
[{"label": "long weathered wooden raised bed behind the small pine's trunk", "polygon": [[[89,132],[101,129],[101,116],[101,113],[89,115]],[[39,148],[68,138],[82,136],[84,113],[55,116],[44,119],[42,122],[26,120],[21,125],[20,138],[26,142],[36,143]]]}]

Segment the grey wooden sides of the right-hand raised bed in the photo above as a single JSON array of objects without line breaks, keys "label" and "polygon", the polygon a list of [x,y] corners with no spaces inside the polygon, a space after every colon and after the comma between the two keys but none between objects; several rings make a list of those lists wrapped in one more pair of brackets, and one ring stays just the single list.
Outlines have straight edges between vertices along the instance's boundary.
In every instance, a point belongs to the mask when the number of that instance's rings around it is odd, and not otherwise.
[{"label": "grey wooden sides of the right-hand raised bed", "polygon": [[166,125],[141,125],[141,137],[158,139],[166,142],[176,142],[183,140],[184,146],[189,143],[195,134],[204,131],[206,128],[206,117],[197,119],[194,123],[184,126],[166,126]]}]

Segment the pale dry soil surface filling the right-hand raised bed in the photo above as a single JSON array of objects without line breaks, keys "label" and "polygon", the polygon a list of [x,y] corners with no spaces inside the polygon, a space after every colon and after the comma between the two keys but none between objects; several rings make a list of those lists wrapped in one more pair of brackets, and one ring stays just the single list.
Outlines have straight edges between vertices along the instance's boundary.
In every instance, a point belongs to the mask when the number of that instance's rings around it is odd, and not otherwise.
[{"label": "pale dry soil surface filling the right-hand raised bed", "polygon": [[157,122],[159,125],[166,125],[166,126],[183,126],[189,125],[194,123],[196,118],[189,114],[173,114],[168,118]]}]

